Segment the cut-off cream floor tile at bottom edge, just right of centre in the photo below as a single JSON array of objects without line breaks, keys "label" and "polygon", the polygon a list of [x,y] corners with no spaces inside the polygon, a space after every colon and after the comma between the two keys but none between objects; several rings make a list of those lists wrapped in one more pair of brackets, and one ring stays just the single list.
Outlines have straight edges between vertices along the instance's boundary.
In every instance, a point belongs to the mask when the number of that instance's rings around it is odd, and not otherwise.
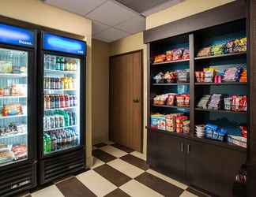
[{"label": "cut-off cream floor tile at bottom edge, just right of centre", "polygon": [[120,189],[132,197],[163,197],[163,195],[139,183],[137,180],[130,180],[128,183],[123,184]]}]

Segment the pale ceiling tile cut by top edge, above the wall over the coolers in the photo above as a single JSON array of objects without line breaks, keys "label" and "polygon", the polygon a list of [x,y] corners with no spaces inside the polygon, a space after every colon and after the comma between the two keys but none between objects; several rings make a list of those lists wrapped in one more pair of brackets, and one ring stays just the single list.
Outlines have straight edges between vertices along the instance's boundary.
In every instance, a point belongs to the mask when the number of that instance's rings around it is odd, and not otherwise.
[{"label": "pale ceiling tile cut by top edge, above the wall over the coolers", "polygon": [[72,13],[85,16],[88,12],[100,6],[106,0],[46,0],[51,6],[66,9]]}]

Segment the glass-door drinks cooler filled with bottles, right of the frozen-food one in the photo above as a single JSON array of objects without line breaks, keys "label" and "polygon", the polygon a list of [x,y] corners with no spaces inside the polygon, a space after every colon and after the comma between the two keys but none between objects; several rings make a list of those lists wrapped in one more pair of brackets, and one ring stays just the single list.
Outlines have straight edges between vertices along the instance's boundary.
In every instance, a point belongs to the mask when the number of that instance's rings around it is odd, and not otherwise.
[{"label": "glass-door drinks cooler filled with bottles, right of the frozen-food one", "polygon": [[85,169],[86,43],[41,33],[40,184]]}]

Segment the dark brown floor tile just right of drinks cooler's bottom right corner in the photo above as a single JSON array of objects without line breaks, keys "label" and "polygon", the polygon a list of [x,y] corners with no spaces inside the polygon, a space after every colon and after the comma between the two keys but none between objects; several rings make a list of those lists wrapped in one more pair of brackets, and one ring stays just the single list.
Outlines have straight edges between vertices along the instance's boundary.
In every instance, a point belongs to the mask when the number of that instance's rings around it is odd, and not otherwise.
[{"label": "dark brown floor tile just right of drinks cooler's bottom right corner", "polygon": [[109,180],[112,184],[115,184],[117,187],[120,187],[122,184],[126,184],[129,180],[131,180],[130,177],[107,164],[100,165],[100,167],[93,170],[96,171],[96,173],[99,173],[101,177]]}]

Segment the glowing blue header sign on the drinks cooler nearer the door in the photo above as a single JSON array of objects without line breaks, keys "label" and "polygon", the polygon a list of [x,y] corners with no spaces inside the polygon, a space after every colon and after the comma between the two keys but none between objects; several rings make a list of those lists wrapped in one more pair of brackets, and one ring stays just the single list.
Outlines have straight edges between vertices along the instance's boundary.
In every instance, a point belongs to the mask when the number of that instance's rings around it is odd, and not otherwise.
[{"label": "glowing blue header sign on the drinks cooler nearer the door", "polygon": [[78,55],[85,55],[86,52],[84,42],[50,33],[43,33],[43,49]]}]

